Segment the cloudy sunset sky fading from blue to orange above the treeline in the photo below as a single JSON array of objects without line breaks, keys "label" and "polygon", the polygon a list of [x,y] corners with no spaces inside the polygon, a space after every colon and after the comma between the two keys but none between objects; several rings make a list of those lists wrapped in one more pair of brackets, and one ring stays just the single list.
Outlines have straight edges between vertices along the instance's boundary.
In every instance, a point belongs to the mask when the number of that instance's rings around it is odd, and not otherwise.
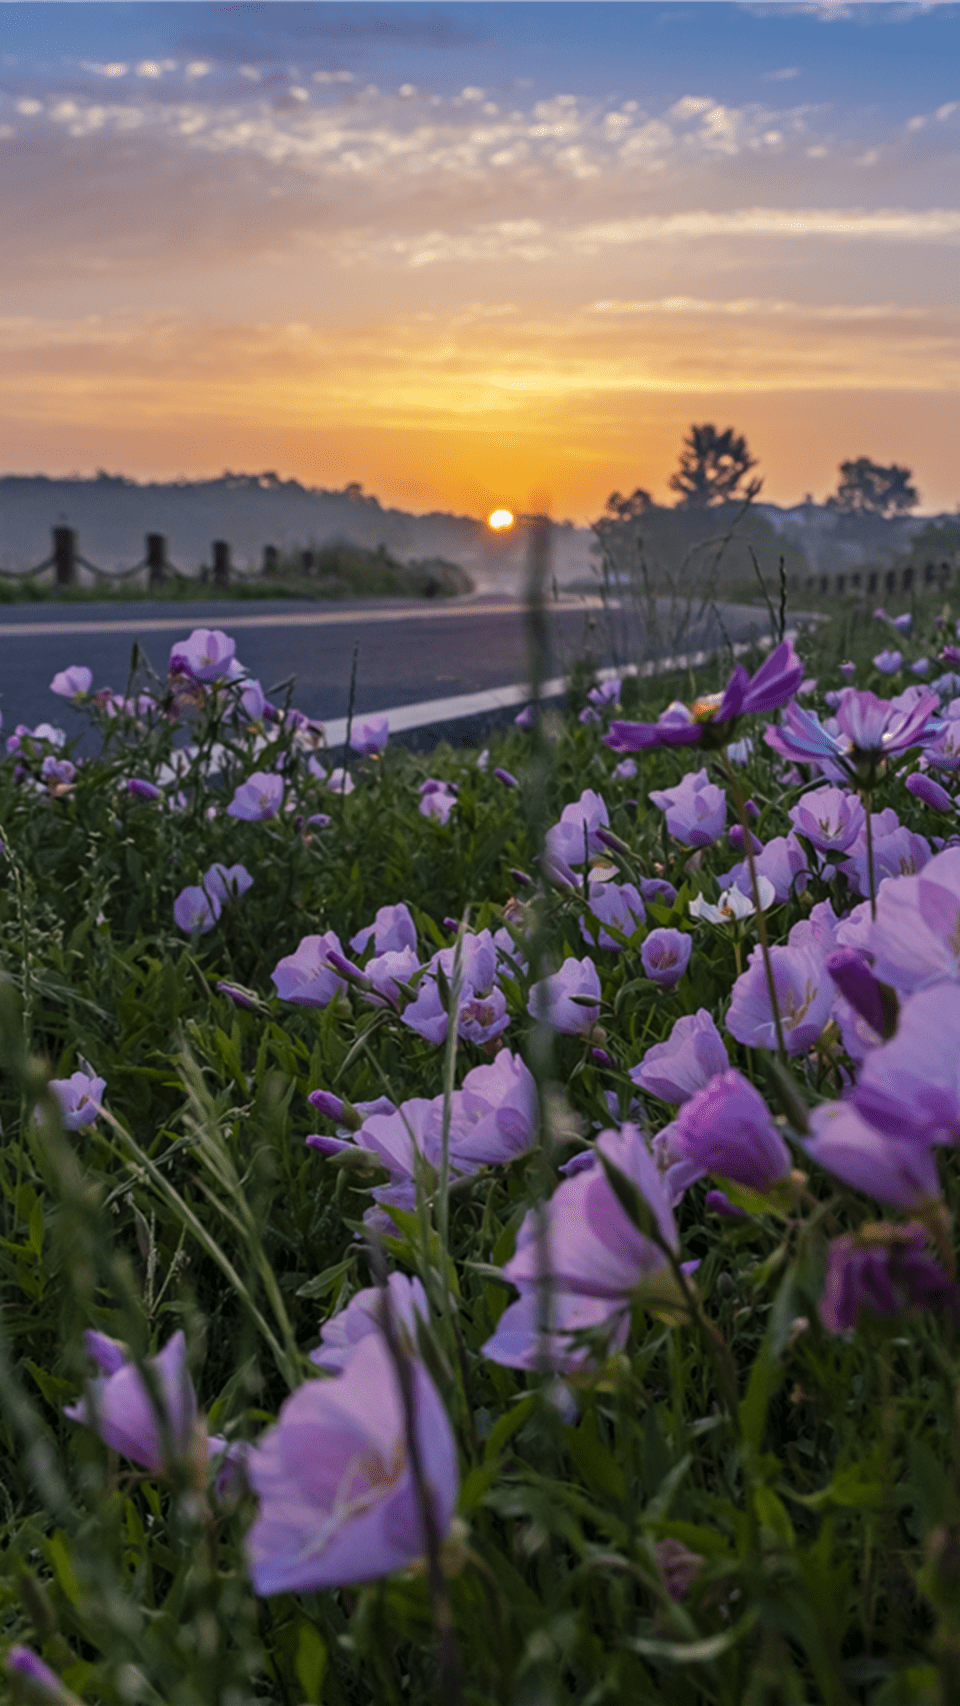
[{"label": "cloudy sunset sky fading from blue to orange above the treeline", "polygon": [[0,473],[960,505],[960,5],[2,3]]}]

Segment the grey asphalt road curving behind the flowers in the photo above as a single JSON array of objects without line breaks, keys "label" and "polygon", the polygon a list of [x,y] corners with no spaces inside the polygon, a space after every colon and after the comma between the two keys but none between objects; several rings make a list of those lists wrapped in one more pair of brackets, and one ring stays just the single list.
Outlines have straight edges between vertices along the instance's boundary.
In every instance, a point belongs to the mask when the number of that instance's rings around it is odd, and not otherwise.
[{"label": "grey asphalt road curving behind the flowers", "polygon": [[[663,618],[667,612],[663,612]],[[123,691],[136,640],[160,676],[171,647],[191,628],[223,628],[237,657],[269,693],[297,677],[293,703],[321,720],[344,717],[353,648],[358,645],[356,713],[418,705],[523,682],[527,638],[523,604],[512,597],[474,597],[443,604],[189,602],[189,604],[20,604],[0,607],[0,710],[3,728],[55,722],[77,730],[75,713],[49,682],[70,664],[87,664],[94,688]],[[766,631],[764,612],[725,606],[732,640]],[[561,595],[551,607],[551,676],[564,674],[590,648],[599,665],[624,657],[677,650],[663,621],[643,635],[633,612],[612,616],[597,599]],[[691,623],[682,650],[709,650],[723,640],[713,618]]]}]

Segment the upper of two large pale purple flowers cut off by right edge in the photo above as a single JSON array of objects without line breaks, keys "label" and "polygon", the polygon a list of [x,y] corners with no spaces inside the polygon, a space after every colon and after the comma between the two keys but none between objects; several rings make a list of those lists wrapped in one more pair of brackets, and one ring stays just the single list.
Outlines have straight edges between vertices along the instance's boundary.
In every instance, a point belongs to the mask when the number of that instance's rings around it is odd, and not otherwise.
[{"label": "upper of two large pale purple flowers cut off by right edge", "polygon": [[868,940],[876,976],[904,995],[960,978],[960,848],[936,853],[919,875],[882,882]]}]

